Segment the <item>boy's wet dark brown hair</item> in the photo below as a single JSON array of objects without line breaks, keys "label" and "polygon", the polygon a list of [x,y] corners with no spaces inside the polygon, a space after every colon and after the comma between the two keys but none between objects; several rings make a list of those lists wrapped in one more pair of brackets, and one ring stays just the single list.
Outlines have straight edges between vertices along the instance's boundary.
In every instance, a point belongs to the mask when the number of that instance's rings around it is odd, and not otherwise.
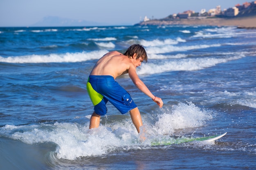
[{"label": "boy's wet dark brown hair", "polygon": [[142,58],[143,62],[148,62],[148,56],[146,53],[146,50],[144,49],[144,47],[140,44],[133,44],[131,45],[126,52],[124,53],[124,55],[127,55],[129,58],[133,56],[133,54],[137,54],[136,59],[138,60],[139,57]]}]

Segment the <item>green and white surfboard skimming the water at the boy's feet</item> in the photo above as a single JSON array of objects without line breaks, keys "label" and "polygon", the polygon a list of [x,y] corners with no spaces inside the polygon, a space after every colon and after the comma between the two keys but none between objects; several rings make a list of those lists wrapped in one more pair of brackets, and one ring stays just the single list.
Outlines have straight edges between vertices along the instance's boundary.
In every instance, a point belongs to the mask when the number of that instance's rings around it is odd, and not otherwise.
[{"label": "green and white surfboard skimming the water at the boy's feet", "polygon": [[223,133],[222,135],[214,135],[209,137],[199,137],[199,138],[188,138],[188,137],[180,137],[177,139],[165,139],[162,141],[155,141],[151,143],[151,146],[157,146],[157,145],[171,145],[171,144],[182,144],[185,142],[192,142],[192,141],[203,141],[203,142],[211,142],[215,141],[217,139],[220,139],[221,137],[225,136],[227,132]]}]

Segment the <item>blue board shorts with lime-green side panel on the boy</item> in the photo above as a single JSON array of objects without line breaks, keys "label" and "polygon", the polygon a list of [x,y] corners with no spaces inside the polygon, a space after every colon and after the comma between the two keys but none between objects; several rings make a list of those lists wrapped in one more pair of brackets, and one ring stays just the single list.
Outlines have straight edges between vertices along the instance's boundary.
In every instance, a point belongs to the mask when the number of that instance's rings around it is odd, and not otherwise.
[{"label": "blue board shorts with lime-green side panel on the boy", "polygon": [[110,75],[90,75],[87,91],[97,115],[106,115],[108,101],[122,114],[137,107],[130,94]]}]

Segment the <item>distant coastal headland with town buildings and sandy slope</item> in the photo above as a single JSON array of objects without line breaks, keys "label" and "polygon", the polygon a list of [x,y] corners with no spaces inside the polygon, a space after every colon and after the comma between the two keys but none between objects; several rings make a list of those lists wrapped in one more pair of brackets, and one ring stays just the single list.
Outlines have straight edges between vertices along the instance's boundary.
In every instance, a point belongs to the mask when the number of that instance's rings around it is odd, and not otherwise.
[{"label": "distant coastal headland with town buildings and sandy slope", "polygon": [[239,28],[256,28],[256,1],[237,4],[235,7],[217,12],[212,9],[208,12],[188,10],[183,13],[172,14],[162,19],[147,19],[135,25],[213,25],[238,26]]}]

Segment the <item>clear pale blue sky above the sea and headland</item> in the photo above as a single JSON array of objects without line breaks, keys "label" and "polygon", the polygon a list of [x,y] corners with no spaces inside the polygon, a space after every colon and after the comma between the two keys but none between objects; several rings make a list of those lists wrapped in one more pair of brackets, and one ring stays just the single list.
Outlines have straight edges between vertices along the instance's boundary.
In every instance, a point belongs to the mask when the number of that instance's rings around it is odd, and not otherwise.
[{"label": "clear pale blue sky above the sea and headland", "polygon": [[[252,1],[252,0],[251,0]],[[251,2],[248,1],[248,2]],[[30,26],[47,16],[106,25],[133,25],[145,15],[160,19],[186,10],[221,9],[245,0],[0,0],[0,26]]]}]

